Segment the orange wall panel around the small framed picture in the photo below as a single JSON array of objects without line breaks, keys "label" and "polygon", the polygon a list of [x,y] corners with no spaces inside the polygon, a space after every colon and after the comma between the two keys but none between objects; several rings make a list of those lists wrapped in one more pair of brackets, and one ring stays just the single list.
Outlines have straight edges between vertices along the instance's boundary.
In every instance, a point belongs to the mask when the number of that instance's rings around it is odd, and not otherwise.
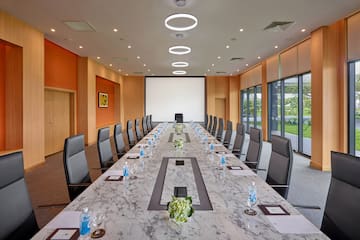
[{"label": "orange wall panel around the small framed picture", "polygon": [[[115,87],[116,83],[96,76],[96,128],[108,126],[115,122]],[[107,93],[109,106],[99,107],[99,92]]]}]

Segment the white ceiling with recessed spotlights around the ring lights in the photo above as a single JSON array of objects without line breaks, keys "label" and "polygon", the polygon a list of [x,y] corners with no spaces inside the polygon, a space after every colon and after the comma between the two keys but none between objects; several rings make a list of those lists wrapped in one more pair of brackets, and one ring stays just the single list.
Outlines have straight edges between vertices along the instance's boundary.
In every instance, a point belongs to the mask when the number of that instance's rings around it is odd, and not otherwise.
[{"label": "white ceiling with recessed spotlights around the ring lights", "polygon": [[[237,70],[246,70],[246,64],[261,61],[258,56],[267,58],[306,38],[314,29],[360,9],[360,0],[186,2],[185,7],[177,7],[174,0],[1,0],[0,8],[80,56],[121,69],[123,74],[155,76],[170,76],[173,70],[179,70],[171,67],[173,61],[188,61],[190,66],[183,68],[188,76],[237,74]],[[164,26],[165,18],[174,13],[190,13],[199,20],[195,29],[183,32],[183,39],[177,39],[176,32]],[[63,23],[69,20],[85,21],[95,32],[75,32]],[[273,21],[295,24],[283,32],[264,31]],[[244,31],[240,32],[240,28]],[[301,32],[303,28],[306,32]],[[189,46],[192,52],[171,55],[168,48],[174,45]],[[279,48],[275,49],[275,45]],[[232,57],[244,60],[230,61]],[[219,71],[225,73],[217,74]]]}]

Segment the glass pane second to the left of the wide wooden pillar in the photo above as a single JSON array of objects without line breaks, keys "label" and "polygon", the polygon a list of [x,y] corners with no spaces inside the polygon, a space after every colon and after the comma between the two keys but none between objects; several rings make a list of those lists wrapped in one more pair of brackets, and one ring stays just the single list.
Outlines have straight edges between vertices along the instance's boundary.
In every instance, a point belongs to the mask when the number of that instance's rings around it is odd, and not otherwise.
[{"label": "glass pane second to the left of the wide wooden pillar", "polygon": [[292,77],[284,80],[284,127],[285,137],[291,140],[294,150],[298,150],[299,138],[299,87],[298,78]]}]

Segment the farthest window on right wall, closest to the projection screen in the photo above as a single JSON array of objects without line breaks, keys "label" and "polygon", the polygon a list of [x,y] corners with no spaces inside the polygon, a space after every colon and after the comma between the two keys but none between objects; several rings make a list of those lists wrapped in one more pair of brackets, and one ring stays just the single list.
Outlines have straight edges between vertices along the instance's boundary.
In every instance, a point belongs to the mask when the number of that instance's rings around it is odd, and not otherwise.
[{"label": "farthest window on right wall, closest to the projection screen", "polygon": [[241,90],[241,122],[246,132],[250,127],[261,128],[261,86]]}]

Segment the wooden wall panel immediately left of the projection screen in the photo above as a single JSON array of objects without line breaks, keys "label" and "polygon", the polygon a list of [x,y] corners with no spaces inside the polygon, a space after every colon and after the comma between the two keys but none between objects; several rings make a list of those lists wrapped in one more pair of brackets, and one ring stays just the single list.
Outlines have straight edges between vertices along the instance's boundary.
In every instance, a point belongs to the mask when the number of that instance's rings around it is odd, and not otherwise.
[{"label": "wooden wall panel immediately left of the projection screen", "polygon": [[145,80],[142,76],[128,76],[124,77],[123,85],[125,129],[128,120],[134,123],[136,118],[141,119],[145,114]]}]

